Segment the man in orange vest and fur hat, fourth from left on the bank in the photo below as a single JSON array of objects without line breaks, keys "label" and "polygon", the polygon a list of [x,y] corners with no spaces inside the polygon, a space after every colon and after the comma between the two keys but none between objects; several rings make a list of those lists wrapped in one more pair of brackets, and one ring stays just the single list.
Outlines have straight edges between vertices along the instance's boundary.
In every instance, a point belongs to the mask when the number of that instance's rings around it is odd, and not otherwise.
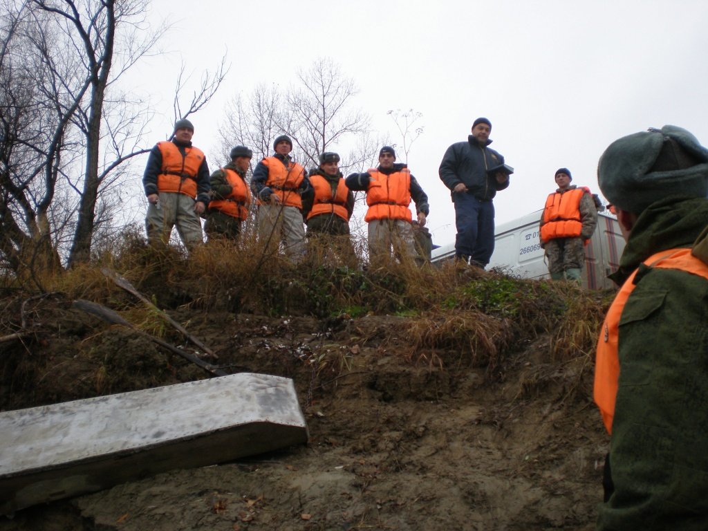
[{"label": "man in orange vest and fur hat, fourth from left on the bank", "polygon": [[339,155],[324,152],[319,167],[309,172],[309,188],[302,194],[302,215],[307,219],[307,236],[312,244],[318,236],[328,241],[335,253],[355,265],[349,237],[349,219],[354,212],[354,194],[339,171]]}]

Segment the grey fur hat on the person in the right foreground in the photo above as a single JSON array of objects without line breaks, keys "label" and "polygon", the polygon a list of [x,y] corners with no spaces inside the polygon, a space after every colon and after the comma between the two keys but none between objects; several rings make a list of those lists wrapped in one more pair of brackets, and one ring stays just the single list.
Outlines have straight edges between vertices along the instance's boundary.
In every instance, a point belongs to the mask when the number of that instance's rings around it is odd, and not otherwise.
[{"label": "grey fur hat on the person in the right foreground", "polygon": [[598,163],[598,183],[612,205],[639,214],[669,195],[708,196],[708,149],[675,125],[612,142]]}]

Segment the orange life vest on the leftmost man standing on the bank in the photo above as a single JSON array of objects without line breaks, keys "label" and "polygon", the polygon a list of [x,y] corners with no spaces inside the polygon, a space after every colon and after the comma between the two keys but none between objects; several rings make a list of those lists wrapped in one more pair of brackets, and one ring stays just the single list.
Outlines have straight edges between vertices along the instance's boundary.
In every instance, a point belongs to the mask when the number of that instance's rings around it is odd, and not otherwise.
[{"label": "orange life vest on the leftmost man standing on the bank", "polygon": [[162,155],[162,171],[157,176],[157,189],[197,197],[197,175],[204,153],[197,147],[185,147],[185,155],[173,142],[157,142]]}]

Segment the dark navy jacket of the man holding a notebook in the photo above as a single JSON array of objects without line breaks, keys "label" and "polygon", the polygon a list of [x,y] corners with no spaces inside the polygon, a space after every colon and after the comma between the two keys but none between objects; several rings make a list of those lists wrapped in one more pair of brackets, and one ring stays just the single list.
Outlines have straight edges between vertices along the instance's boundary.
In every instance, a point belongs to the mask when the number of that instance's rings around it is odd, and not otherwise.
[{"label": "dark navy jacket of the man holding a notebook", "polygon": [[467,142],[456,142],[447,148],[440,163],[440,179],[447,188],[455,188],[459,183],[467,186],[467,193],[479,200],[492,199],[497,190],[503,190],[509,185],[509,179],[498,183],[496,177],[487,174],[487,169],[504,164],[504,157],[493,149],[489,149],[491,140],[482,146],[472,135]]}]

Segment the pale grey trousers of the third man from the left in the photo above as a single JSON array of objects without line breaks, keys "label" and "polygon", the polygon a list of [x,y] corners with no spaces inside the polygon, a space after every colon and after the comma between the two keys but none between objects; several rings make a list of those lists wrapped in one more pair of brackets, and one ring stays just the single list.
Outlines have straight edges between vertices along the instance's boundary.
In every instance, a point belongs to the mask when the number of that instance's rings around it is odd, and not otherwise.
[{"label": "pale grey trousers of the third man from the left", "polygon": [[304,253],[305,229],[297,207],[259,205],[256,214],[258,237],[266,246],[285,243],[285,253],[295,261]]}]

